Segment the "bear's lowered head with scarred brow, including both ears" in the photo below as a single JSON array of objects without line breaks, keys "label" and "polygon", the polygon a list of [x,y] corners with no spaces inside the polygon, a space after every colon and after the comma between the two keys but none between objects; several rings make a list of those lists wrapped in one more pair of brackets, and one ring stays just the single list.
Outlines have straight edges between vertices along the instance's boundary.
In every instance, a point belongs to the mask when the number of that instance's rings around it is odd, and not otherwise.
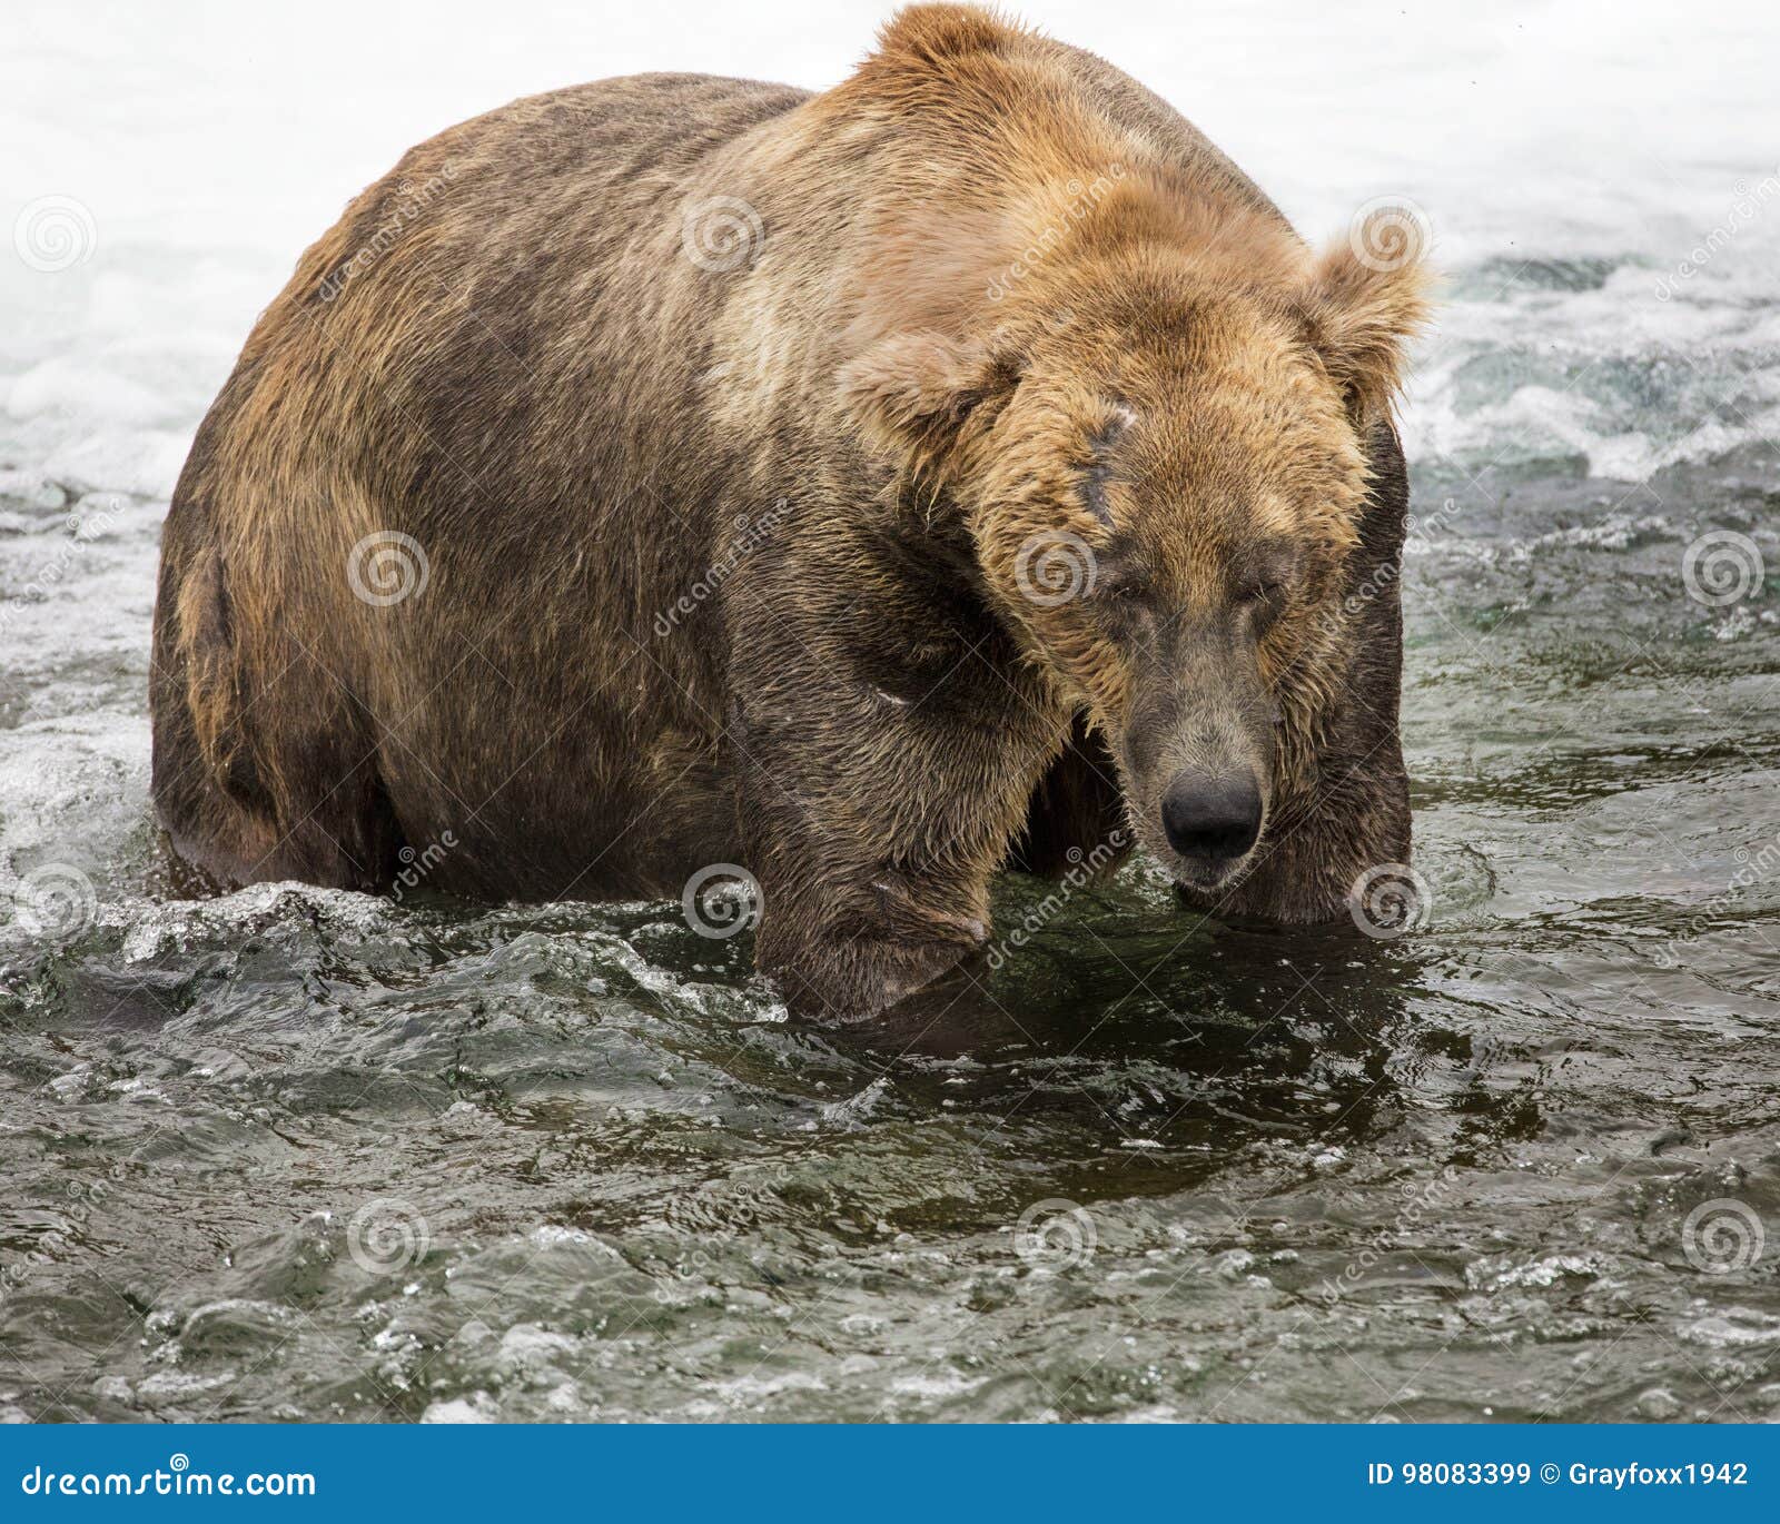
[{"label": "bear's lowered head with scarred brow, including both ears", "polygon": [[1255,862],[1342,701],[1363,442],[1426,312],[1422,271],[1378,242],[1079,246],[844,372],[904,497],[968,536],[984,598],[1191,890]]}]

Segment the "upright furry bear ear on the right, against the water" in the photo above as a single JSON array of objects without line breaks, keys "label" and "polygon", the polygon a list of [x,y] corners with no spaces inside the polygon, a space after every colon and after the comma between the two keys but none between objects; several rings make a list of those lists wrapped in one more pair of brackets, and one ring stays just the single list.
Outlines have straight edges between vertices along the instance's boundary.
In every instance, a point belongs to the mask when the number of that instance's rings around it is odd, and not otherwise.
[{"label": "upright furry bear ear on the right, against the water", "polygon": [[1433,310],[1426,235],[1404,210],[1358,223],[1312,265],[1301,292],[1310,344],[1360,420],[1387,417],[1406,345]]}]

